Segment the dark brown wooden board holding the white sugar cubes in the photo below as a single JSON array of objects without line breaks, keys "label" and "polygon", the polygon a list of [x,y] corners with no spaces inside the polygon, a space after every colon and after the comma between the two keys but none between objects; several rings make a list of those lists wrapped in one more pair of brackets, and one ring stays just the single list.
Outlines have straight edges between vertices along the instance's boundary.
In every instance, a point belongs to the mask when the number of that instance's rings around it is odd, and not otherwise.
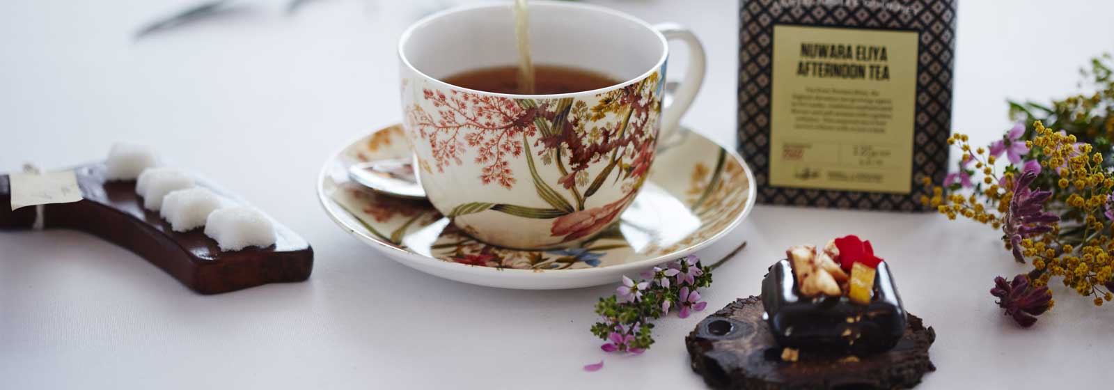
[{"label": "dark brown wooden board holding the white sugar cubes", "polygon": [[[49,204],[42,211],[43,227],[84,231],[120,245],[166,271],[202,294],[217,294],[267,283],[301,282],[313,271],[313,248],[292,230],[272,220],[276,242],[267,247],[221,251],[202,228],[179,233],[143,207],[135,181],[106,182],[104,164],[74,169],[84,197],[80,202]],[[198,179],[198,186],[240,199]],[[36,207],[11,211],[8,175],[0,175],[0,230],[31,228]],[[241,202],[243,203],[243,202]]]}]

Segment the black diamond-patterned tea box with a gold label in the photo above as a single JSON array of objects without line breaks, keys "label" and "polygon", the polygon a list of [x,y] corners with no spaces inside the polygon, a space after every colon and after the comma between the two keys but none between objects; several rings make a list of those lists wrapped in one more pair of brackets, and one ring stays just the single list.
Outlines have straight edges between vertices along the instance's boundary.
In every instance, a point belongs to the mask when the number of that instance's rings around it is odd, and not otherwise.
[{"label": "black diamond-patterned tea box with a gold label", "polygon": [[758,202],[926,211],[947,174],[954,0],[740,2],[739,149]]}]

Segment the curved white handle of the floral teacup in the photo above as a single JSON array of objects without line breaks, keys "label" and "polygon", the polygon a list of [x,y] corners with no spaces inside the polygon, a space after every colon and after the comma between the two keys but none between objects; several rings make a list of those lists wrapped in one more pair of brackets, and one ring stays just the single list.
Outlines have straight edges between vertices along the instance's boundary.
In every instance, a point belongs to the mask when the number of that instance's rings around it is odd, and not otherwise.
[{"label": "curved white handle of the floral teacup", "polygon": [[706,58],[704,45],[701,45],[700,39],[688,28],[677,23],[659,23],[654,25],[654,29],[665,36],[665,39],[682,40],[688,47],[688,69],[685,72],[685,79],[681,81],[681,87],[673,96],[673,101],[662,108],[662,129],[657,139],[667,140],[681,128],[681,117],[688,110],[688,106],[692,106],[696,92],[704,84]]}]

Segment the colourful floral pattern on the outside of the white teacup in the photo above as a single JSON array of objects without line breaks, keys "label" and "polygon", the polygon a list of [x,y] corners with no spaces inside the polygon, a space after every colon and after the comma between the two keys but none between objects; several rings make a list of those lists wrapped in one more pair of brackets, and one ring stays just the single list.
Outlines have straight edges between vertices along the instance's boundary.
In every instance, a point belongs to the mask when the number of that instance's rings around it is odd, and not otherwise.
[{"label": "colourful floral pattern on the outside of the white teacup", "polygon": [[404,104],[404,116],[423,184],[467,183],[453,176],[469,170],[457,167],[478,165],[473,179],[518,197],[498,202],[429,186],[427,193],[458,224],[491,211],[550,221],[547,233],[556,240],[548,246],[587,238],[614,222],[645,181],[656,149],[662,81],[655,71],[624,87],[564,98],[422,87]]}]

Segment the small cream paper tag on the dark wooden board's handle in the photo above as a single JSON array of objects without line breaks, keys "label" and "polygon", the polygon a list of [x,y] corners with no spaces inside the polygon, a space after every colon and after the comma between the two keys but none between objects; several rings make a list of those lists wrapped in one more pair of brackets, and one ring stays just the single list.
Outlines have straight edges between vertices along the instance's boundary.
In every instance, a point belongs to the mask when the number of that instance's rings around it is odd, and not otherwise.
[{"label": "small cream paper tag on the dark wooden board's handle", "polygon": [[81,188],[77,186],[74,170],[36,173],[12,173],[11,209],[53,203],[81,201]]}]

